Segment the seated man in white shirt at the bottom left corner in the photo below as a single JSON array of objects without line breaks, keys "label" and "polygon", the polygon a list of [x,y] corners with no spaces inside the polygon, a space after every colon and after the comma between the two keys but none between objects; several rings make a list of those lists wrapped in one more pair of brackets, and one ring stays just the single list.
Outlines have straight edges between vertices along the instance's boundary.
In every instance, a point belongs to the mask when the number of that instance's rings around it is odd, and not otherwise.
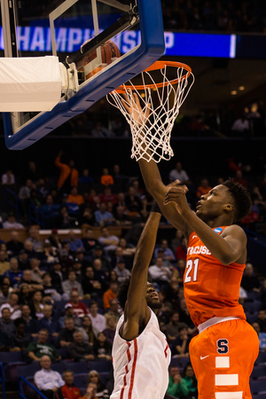
[{"label": "seated man in white shirt at the bottom left corner", "polygon": [[47,399],[53,399],[54,394],[59,399],[63,398],[60,387],[65,385],[65,381],[61,378],[59,372],[51,370],[51,357],[42,356],[40,359],[42,369],[35,372],[35,386],[42,392]]}]

